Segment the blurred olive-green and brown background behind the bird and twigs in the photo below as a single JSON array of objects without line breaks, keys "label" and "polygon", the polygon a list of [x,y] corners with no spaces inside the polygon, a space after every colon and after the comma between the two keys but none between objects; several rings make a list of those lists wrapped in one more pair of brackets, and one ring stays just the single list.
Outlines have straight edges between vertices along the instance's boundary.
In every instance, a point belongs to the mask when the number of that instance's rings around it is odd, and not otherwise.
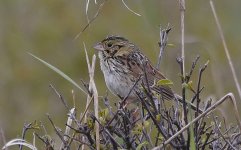
[{"label": "blurred olive-green and brown background behind the bird and twigs", "polygon": [[[95,16],[103,1],[97,2],[90,0],[89,19]],[[241,1],[215,0],[214,3],[241,83]],[[141,16],[130,12],[121,1],[108,0],[98,17],[75,38],[88,23],[85,0],[0,0],[0,128],[7,141],[21,136],[26,122],[38,120],[48,126],[46,113],[57,126],[65,126],[68,111],[49,84],[55,86],[69,106],[73,106],[71,91],[74,90],[78,113],[83,111],[86,103],[86,96],[79,89],[33,59],[28,52],[56,66],[81,85],[81,79],[89,80],[83,42],[91,58],[95,43],[107,35],[121,35],[137,44],[156,64],[160,25],[166,27],[170,23],[169,43],[174,46],[166,48],[161,71],[174,82],[173,89],[180,93],[180,68],[176,62],[181,56],[178,1],[132,0],[126,4]],[[202,78],[203,100],[210,97],[217,100],[233,92],[241,109],[208,0],[186,1],[185,50],[186,70],[197,55],[201,56],[191,79],[194,87],[199,67],[210,60]],[[99,95],[106,95],[108,90],[98,61],[95,80]],[[109,97],[113,101],[117,99],[111,94]],[[230,103],[222,105],[219,111],[230,122],[234,121]],[[53,129],[47,128],[47,132],[51,134]],[[0,140],[0,145],[2,143]]]}]

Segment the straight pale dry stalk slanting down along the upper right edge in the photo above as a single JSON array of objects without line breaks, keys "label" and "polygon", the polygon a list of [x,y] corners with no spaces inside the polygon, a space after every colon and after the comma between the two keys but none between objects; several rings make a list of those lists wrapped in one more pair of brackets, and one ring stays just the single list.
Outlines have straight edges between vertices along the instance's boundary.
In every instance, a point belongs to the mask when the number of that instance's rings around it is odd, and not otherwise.
[{"label": "straight pale dry stalk slanting down along the upper right edge", "polygon": [[223,30],[221,28],[221,24],[219,22],[219,19],[218,19],[218,16],[217,16],[217,13],[216,13],[216,10],[215,10],[215,7],[214,7],[214,4],[213,4],[212,0],[210,0],[210,6],[211,6],[211,9],[212,9],[212,12],[213,12],[213,16],[215,18],[215,22],[216,22],[217,27],[218,27],[218,32],[220,34],[220,37],[221,37],[221,40],[222,40],[222,43],[223,43],[224,51],[225,51],[227,59],[228,59],[229,67],[232,71],[233,79],[234,79],[236,88],[238,90],[239,98],[241,100],[241,88],[240,88],[240,85],[239,85],[239,82],[238,82],[237,74],[236,74],[236,71],[234,69],[233,62],[231,60],[229,50],[228,50],[228,47],[227,47],[227,44],[226,44],[226,40],[224,38]]}]

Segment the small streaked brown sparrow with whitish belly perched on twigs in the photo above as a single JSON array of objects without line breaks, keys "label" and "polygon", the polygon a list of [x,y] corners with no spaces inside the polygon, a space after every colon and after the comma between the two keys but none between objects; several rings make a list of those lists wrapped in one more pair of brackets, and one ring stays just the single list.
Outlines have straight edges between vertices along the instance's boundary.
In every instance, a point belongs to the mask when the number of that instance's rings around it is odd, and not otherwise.
[{"label": "small streaked brown sparrow with whitish belly perched on twigs", "polygon": [[[182,97],[174,93],[168,84],[156,84],[160,80],[168,79],[152,65],[141,49],[128,39],[122,36],[107,36],[95,44],[94,49],[98,51],[100,68],[112,94],[135,102],[138,101],[136,91],[140,91],[144,85],[159,94],[163,100],[178,100],[183,103]],[[194,104],[189,104],[196,110]],[[199,109],[199,112],[203,111]]]}]

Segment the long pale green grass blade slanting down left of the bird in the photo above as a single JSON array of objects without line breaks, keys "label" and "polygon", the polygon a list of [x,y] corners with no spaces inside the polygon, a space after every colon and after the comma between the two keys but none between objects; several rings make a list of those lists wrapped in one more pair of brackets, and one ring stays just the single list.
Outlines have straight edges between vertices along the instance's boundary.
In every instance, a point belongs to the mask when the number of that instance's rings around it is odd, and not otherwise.
[{"label": "long pale green grass blade slanting down left of the bird", "polygon": [[37,59],[38,61],[40,61],[41,63],[43,63],[44,65],[46,65],[48,68],[50,68],[51,70],[55,71],[56,73],[58,73],[60,76],[62,76],[64,79],[66,79],[67,81],[69,81],[70,83],[72,83],[74,86],[76,86],[78,89],[80,89],[82,92],[84,92],[85,94],[87,94],[74,80],[72,80],[69,76],[67,76],[65,73],[63,73],[61,70],[59,70],[58,68],[54,67],[53,65],[47,63],[46,61],[42,60],[41,58],[28,53],[29,55],[31,55],[33,58]]}]

